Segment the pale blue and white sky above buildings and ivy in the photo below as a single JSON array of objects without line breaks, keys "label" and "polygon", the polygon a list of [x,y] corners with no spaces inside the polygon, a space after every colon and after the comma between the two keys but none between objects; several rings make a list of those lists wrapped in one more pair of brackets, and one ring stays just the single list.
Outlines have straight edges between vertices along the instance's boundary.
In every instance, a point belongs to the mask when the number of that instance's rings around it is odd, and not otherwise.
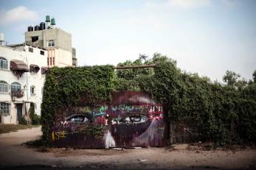
[{"label": "pale blue and white sky above buildings and ivy", "polygon": [[27,26],[55,18],[72,34],[78,65],[105,65],[159,52],[183,71],[221,81],[256,70],[254,0],[0,0],[0,32],[23,43]]}]

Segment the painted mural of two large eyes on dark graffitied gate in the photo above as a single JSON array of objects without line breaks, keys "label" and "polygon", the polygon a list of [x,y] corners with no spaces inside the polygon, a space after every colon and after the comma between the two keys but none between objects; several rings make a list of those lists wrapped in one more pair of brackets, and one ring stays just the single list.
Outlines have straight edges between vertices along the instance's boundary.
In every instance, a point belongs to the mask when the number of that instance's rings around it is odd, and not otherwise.
[{"label": "painted mural of two large eyes on dark graffitied gate", "polygon": [[142,92],[112,92],[109,105],[80,105],[57,113],[55,146],[109,148],[164,146],[163,107]]}]

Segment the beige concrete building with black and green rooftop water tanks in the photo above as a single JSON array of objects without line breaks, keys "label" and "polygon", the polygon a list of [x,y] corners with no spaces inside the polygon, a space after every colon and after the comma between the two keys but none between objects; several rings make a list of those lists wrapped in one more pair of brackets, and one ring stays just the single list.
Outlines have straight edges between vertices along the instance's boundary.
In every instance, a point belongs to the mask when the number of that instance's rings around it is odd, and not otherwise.
[{"label": "beige concrete building with black and green rooftop water tanks", "polygon": [[25,32],[25,43],[38,46],[48,51],[47,64],[49,67],[76,66],[75,48],[72,48],[72,35],[62,29],[55,28],[54,18],[46,16],[46,24],[29,26]]}]

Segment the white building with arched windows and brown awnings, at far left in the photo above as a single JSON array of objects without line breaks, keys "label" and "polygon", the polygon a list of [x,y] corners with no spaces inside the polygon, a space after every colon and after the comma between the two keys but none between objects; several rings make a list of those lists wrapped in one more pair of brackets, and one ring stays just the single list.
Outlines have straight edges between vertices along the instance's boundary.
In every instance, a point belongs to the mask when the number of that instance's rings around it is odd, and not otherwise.
[{"label": "white building with arched windows and brown awnings, at far left", "polygon": [[46,49],[24,44],[0,45],[0,122],[18,124],[29,118],[30,104],[41,115],[43,86],[47,71]]}]

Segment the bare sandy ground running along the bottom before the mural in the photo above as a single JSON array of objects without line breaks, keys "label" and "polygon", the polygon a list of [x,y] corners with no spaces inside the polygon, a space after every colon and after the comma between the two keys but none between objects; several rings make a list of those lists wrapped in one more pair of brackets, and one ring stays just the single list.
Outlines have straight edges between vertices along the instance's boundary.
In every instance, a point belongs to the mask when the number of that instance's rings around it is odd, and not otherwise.
[{"label": "bare sandy ground running along the bottom before the mural", "polygon": [[[202,151],[148,149],[37,149],[22,145],[41,135],[41,128],[0,135],[0,168],[7,166],[72,169],[255,169],[256,150]],[[27,169],[27,168],[24,168]]]}]

